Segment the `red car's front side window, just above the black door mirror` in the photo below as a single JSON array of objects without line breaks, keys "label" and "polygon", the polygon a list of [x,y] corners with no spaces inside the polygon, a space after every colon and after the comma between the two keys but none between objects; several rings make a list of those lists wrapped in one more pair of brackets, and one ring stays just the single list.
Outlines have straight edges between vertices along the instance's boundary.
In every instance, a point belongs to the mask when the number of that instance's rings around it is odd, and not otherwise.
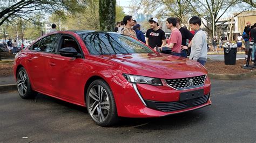
[{"label": "red car's front side window, just above the black door mirror", "polygon": [[65,47],[75,48],[78,53],[82,54],[76,40],[68,35],[63,35],[63,37],[61,38],[58,52],[60,49]]}]

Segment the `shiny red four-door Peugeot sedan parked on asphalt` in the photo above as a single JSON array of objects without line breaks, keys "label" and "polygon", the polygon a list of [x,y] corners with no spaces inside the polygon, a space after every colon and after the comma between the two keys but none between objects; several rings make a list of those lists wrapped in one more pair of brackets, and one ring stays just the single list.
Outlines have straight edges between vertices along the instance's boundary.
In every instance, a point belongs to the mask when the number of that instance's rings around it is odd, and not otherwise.
[{"label": "shiny red four-door Peugeot sedan parked on asphalt", "polygon": [[100,126],[118,117],[162,117],[211,104],[211,83],[200,63],[112,32],[44,35],[16,54],[14,76],[22,98],[40,92],[86,106]]}]

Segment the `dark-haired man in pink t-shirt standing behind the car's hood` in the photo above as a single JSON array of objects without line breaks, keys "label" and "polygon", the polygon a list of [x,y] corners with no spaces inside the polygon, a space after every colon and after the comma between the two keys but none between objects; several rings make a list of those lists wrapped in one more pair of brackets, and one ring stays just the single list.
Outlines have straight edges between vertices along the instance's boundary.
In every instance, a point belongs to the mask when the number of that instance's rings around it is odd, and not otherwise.
[{"label": "dark-haired man in pink t-shirt standing behind the car's hood", "polygon": [[[159,47],[159,49],[161,51],[163,47],[169,47],[172,49],[172,55],[180,56],[182,35],[178,28],[176,27],[176,24],[177,21],[175,18],[170,17],[166,19],[166,27],[169,28],[172,31],[172,33],[169,39],[169,44]],[[154,48],[154,50],[156,50],[156,48]]]}]

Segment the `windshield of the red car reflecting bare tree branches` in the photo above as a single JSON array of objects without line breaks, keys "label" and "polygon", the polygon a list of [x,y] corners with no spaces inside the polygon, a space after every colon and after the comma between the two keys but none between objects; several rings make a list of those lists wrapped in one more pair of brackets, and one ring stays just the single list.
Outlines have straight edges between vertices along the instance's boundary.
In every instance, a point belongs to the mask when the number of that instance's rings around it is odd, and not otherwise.
[{"label": "windshield of the red car reflecting bare tree branches", "polygon": [[79,36],[92,55],[154,53],[151,48],[123,34],[95,32]]}]

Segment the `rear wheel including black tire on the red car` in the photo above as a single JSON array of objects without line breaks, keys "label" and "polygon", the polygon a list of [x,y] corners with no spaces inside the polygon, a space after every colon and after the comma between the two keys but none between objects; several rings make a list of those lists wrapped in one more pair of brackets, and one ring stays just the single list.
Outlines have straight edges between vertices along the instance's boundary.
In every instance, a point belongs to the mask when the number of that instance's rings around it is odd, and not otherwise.
[{"label": "rear wheel including black tire on the red car", "polygon": [[37,95],[37,92],[32,90],[29,76],[23,67],[20,68],[17,73],[17,89],[19,96],[23,99],[35,98]]}]

